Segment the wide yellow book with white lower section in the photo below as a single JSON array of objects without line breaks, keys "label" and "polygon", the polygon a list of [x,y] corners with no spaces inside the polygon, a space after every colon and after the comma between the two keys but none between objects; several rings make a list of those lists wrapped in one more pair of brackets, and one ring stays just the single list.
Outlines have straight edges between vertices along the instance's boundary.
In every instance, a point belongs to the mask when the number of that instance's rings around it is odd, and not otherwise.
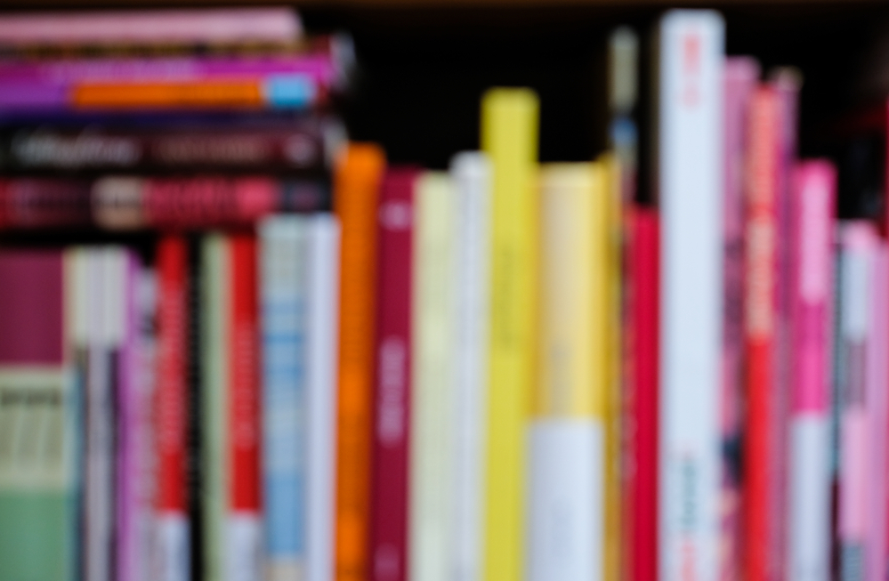
[{"label": "wide yellow book with white lower section", "polygon": [[[610,391],[609,213],[603,164],[540,173],[540,339],[529,428],[530,581],[603,579]],[[570,518],[566,518],[570,515]]]}]

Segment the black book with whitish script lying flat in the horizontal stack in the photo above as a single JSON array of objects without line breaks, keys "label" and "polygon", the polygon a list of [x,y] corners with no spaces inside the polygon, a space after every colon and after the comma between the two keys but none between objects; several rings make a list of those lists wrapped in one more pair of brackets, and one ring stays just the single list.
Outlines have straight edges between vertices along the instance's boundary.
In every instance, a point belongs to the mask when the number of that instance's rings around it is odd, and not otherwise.
[{"label": "black book with whitish script lying flat in the horizontal stack", "polygon": [[277,127],[24,127],[0,137],[4,172],[323,171],[336,125],[305,117]]}]

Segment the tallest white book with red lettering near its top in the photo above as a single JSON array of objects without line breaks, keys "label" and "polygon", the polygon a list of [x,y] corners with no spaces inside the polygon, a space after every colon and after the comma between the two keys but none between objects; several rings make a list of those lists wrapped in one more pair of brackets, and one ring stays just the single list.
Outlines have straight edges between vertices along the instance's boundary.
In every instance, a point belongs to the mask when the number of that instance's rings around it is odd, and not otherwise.
[{"label": "tallest white book with red lettering near its top", "polygon": [[718,574],[723,36],[716,12],[660,22],[661,581]]}]

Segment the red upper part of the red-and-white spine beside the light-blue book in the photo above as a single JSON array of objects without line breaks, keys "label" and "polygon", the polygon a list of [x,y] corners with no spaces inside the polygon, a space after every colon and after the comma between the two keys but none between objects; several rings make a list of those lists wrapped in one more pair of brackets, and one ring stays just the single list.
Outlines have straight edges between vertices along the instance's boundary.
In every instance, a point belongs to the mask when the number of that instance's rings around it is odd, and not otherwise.
[{"label": "red upper part of the red-and-white spine beside the light-blue book", "polygon": [[256,335],[256,239],[252,234],[230,237],[230,260],[230,509],[258,515],[261,434]]}]

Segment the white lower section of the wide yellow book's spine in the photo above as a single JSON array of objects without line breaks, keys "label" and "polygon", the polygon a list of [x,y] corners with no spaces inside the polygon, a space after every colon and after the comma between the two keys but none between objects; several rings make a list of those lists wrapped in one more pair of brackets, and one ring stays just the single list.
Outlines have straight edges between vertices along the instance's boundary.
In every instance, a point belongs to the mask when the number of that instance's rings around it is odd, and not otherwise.
[{"label": "white lower section of the wide yellow book's spine", "polygon": [[602,578],[602,422],[538,419],[531,424],[528,578]]}]

